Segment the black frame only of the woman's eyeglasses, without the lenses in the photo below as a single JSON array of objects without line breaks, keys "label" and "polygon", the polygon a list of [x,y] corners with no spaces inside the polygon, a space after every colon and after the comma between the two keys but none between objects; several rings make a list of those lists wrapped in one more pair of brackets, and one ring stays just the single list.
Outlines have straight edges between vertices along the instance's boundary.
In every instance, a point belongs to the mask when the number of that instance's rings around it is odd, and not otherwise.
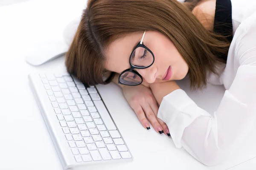
[{"label": "black frame only of the woman's eyeglasses, without the lenses", "polygon": [[[139,42],[139,43],[134,47],[134,49],[131,51],[131,55],[130,55],[130,57],[129,57],[129,64],[130,64],[131,68],[128,68],[128,69],[122,71],[122,73],[121,73],[121,74],[119,75],[119,77],[118,77],[118,83],[121,84],[121,85],[127,85],[127,84],[124,84],[124,83],[120,82],[120,78],[121,78],[122,74],[124,74],[125,72],[132,72],[132,73],[136,74],[137,76],[139,76],[139,77],[141,78],[141,82],[140,82],[140,84],[141,84],[141,83],[143,82],[143,78],[142,78],[142,76],[141,76],[136,70],[134,70],[134,69],[135,69],[135,68],[136,68],[136,69],[145,69],[145,68],[149,68],[151,65],[154,64],[154,54],[153,54],[153,52],[152,52],[148,47],[146,47],[146,46],[143,44],[143,40],[144,40],[144,37],[145,37],[145,33],[146,33],[146,31],[143,32],[143,36],[142,36],[140,42]],[[137,66],[134,66],[134,65],[131,64],[131,56],[132,56],[132,54],[134,53],[134,51],[135,51],[137,48],[139,48],[139,47],[145,48],[146,50],[148,50],[148,52],[150,52],[150,53],[152,54],[153,62],[151,63],[151,65],[148,65],[148,66],[146,66],[146,67],[137,67]],[[137,85],[140,85],[140,84],[137,84]],[[130,85],[130,86],[136,86],[136,85]]]}]

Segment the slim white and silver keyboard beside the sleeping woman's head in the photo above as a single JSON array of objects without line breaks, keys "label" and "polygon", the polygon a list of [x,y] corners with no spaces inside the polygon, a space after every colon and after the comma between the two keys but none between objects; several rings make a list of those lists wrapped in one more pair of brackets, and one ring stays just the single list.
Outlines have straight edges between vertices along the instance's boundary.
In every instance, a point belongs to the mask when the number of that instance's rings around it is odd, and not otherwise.
[{"label": "slim white and silver keyboard beside the sleeping woman's head", "polygon": [[65,170],[133,159],[96,87],[68,73],[29,81]]}]

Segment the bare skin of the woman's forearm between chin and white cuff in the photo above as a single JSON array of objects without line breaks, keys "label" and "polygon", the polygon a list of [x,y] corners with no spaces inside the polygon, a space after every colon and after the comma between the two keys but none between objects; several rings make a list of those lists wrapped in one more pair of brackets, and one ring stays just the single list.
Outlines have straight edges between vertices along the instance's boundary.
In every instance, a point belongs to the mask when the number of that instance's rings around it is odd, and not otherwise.
[{"label": "bare skin of the woman's forearm between chin and white cuff", "polygon": [[161,104],[164,96],[180,88],[175,81],[152,83],[149,87],[151,88],[151,91],[159,105]]}]

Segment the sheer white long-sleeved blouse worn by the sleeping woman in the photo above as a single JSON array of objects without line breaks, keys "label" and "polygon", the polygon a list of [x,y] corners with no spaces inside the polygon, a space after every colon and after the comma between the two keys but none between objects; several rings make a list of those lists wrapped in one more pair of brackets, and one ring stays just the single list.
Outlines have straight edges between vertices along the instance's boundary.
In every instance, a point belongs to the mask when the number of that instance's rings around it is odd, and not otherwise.
[{"label": "sheer white long-sleeved blouse worn by the sleeping woman", "polygon": [[220,164],[238,147],[256,119],[256,0],[232,0],[232,18],[235,34],[226,68],[220,77],[208,77],[226,89],[214,116],[181,89],[164,96],[157,115],[175,146],[208,166]]}]

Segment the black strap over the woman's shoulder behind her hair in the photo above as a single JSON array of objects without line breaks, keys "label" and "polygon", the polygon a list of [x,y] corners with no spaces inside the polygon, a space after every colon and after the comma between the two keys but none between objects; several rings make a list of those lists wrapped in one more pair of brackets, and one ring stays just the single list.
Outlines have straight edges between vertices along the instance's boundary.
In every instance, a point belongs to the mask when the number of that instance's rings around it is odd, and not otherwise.
[{"label": "black strap over the woman's shoulder behind her hair", "polygon": [[[232,4],[230,0],[216,0],[213,31],[227,36],[227,40],[233,40]],[[227,55],[218,56],[227,61]]]}]

